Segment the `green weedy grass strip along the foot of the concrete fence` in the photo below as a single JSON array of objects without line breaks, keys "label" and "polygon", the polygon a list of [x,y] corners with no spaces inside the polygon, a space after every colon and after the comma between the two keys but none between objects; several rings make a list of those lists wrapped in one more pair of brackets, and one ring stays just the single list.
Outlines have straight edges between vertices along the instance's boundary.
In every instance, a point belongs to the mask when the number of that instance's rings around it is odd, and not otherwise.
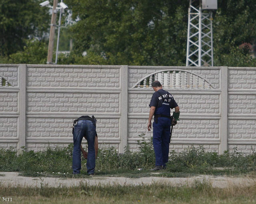
[{"label": "green weedy grass strip along the foot of the concrete fence", "polygon": [[[144,135],[138,141],[139,151],[132,153],[126,149],[119,154],[114,148],[99,150],[96,159],[96,174],[99,176],[125,176],[140,178],[152,176],[150,168],[154,166],[154,150],[152,139],[146,141]],[[0,171],[20,172],[23,176],[64,177],[72,178],[72,144],[66,148],[46,149],[45,151],[26,151],[21,154],[16,150],[0,149]],[[142,170],[137,170],[142,168]],[[219,155],[207,152],[203,147],[188,147],[180,153],[170,152],[166,169],[160,175],[164,177],[188,177],[198,174],[216,176],[236,176],[250,174],[256,170],[256,153],[245,155],[238,152]],[[76,176],[87,178],[86,160],[82,158],[81,174]]]}]

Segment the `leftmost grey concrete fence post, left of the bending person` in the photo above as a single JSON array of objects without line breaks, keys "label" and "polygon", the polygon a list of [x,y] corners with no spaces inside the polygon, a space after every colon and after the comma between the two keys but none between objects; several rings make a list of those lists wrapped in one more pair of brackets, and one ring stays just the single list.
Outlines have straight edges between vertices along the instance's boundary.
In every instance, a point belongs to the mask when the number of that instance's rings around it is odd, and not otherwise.
[{"label": "leftmost grey concrete fence post, left of the bending person", "polygon": [[18,94],[18,146],[26,148],[26,64],[20,64],[18,70],[19,94]]}]

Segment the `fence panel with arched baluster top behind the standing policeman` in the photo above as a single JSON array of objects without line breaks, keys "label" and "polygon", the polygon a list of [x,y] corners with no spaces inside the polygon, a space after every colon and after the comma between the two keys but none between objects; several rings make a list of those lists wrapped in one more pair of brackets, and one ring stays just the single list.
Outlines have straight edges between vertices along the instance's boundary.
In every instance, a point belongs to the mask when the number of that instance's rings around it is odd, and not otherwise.
[{"label": "fence panel with arched baluster top behind the standing policeman", "polygon": [[[221,153],[226,142],[221,139],[220,67],[138,67],[129,66],[129,135],[135,150],[138,135],[147,132],[149,103],[154,93],[152,82],[158,80],[180,107],[180,121],[174,127],[170,149],[182,151],[188,145],[204,145],[208,151]],[[148,85],[147,85],[148,84]],[[226,137],[226,135],[225,135]]]}]

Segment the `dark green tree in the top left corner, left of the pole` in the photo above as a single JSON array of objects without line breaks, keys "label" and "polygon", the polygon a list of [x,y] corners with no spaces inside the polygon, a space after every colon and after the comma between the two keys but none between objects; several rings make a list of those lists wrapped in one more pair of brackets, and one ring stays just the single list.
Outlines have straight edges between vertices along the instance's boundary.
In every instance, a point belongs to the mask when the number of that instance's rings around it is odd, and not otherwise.
[{"label": "dark green tree in the top left corner, left of the pole", "polygon": [[49,8],[38,0],[0,0],[0,55],[21,51],[26,39],[44,38],[49,20]]}]

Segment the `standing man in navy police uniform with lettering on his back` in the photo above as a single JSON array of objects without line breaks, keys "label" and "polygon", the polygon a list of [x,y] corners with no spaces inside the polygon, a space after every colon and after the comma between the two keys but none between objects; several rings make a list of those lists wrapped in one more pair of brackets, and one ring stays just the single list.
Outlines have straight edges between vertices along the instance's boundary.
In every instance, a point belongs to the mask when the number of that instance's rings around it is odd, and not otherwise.
[{"label": "standing man in navy police uniform with lettering on his back", "polygon": [[[176,125],[180,116],[180,108],[172,95],[162,89],[159,81],[154,81],[152,87],[155,93],[150,101],[150,113],[148,118],[148,131],[151,130],[151,120],[154,115],[153,123],[153,147],[156,155],[156,166],[150,170],[156,171],[165,168],[168,162],[170,127]],[[170,109],[173,112],[173,120],[171,121]]]}]

